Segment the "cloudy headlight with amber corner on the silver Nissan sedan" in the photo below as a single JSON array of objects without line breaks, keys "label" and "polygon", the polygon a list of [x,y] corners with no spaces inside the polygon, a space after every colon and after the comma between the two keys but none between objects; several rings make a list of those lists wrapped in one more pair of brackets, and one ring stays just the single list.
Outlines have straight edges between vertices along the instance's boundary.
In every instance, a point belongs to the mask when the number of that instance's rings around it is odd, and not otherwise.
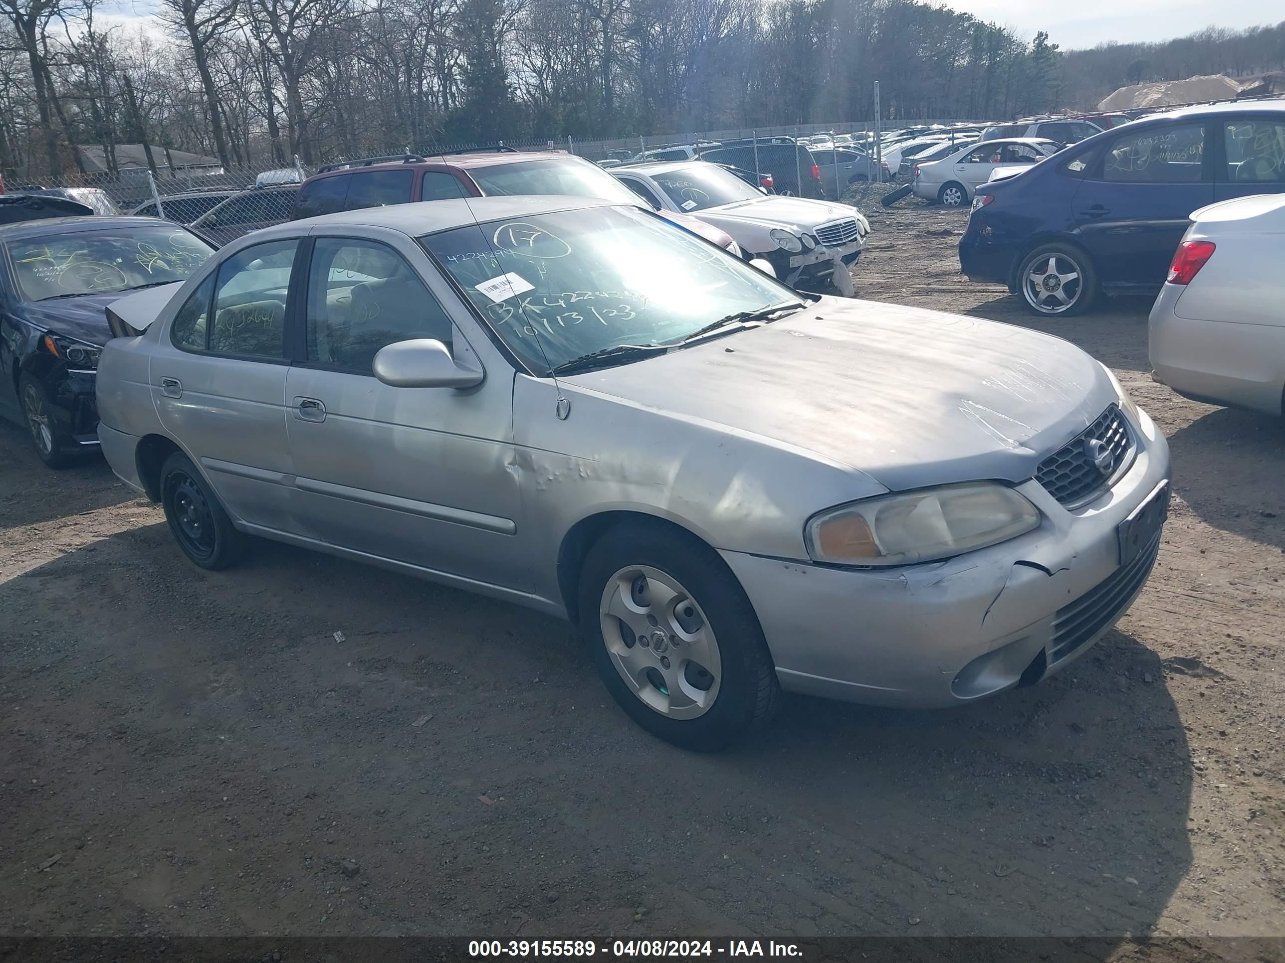
[{"label": "cloudy headlight with amber corner on the silver Nissan sedan", "polygon": [[908,565],[1006,542],[1040,524],[1036,507],[993,482],[867,498],[813,516],[808,555],[839,565]]}]

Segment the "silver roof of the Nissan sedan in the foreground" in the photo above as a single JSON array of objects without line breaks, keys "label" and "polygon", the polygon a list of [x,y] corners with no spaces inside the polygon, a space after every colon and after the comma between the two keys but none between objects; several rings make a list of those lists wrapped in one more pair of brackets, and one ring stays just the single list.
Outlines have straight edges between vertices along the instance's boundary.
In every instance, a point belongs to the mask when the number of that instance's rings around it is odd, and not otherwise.
[{"label": "silver roof of the Nissan sedan in the foreground", "polygon": [[287,221],[262,232],[284,232],[296,225],[361,227],[391,227],[394,231],[418,238],[423,234],[448,231],[452,227],[466,227],[472,223],[486,223],[505,217],[528,217],[547,214],[555,211],[580,211],[592,207],[621,207],[619,202],[598,200],[595,198],[535,196],[524,194],[497,195],[491,198],[460,198],[450,200],[420,200],[414,204],[389,204],[387,207],[366,207],[356,211],[341,211],[334,214],[306,217],[301,221]]}]

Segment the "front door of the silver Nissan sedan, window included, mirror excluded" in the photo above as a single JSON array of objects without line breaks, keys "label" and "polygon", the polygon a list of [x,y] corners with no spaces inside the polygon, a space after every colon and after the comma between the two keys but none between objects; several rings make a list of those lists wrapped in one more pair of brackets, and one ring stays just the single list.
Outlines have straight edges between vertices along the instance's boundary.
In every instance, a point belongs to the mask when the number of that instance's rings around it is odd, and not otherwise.
[{"label": "front door of the silver Nissan sedan, window included, mirror excluded", "polygon": [[394,388],[371,369],[386,344],[419,338],[483,366],[436,275],[409,239],[315,239],[287,392],[299,524],[326,544],[522,588],[513,369],[486,365],[469,389]]}]

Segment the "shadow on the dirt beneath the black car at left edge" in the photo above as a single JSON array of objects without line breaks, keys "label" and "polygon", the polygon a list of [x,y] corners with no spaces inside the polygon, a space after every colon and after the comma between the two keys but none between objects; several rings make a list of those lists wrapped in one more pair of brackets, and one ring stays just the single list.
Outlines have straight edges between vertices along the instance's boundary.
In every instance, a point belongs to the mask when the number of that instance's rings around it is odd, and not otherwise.
[{"label": "shadow on the dirt beneath the black car at left edge", "polygon": [[36,457],[27,431],[0,421],[0,530],[82,515],[137,498],[98,452],[53,470]]}]

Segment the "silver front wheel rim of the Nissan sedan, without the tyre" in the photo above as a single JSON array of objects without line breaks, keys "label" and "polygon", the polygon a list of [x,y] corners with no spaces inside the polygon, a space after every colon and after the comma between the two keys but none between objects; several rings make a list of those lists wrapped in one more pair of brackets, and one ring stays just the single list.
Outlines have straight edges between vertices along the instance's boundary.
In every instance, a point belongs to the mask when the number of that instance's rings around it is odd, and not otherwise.
[{"label": "silver front wheel rim of the Nissan sedan, without the tyre", "polygon": [[599,605],[612,664],[641,702],[671,719],[704,715],[718,697],[722,657],[704,611],[659,569],[631,565]]}]

